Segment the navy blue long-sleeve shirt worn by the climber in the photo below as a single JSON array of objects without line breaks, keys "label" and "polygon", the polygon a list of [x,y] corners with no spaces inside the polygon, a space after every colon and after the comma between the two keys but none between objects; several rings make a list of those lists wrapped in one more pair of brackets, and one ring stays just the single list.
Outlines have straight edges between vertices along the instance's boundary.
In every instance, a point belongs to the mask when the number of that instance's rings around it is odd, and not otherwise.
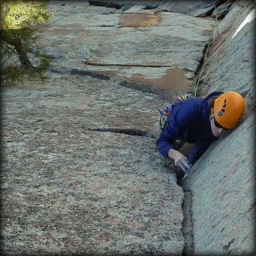
[{"label": "navy blue long-sleeve shirt worn by the climber", "polygon": [[213,92],[205,98],[190,98],[172,104],[168,123],[157,140],[157,149],[164,157],[168,157],[171,148],[174,149],[175,140],[183,140],[195,143],[187,156],[189,163],[194,164],[212,141],[217,139],[211,130],[208,102],[221,93],[223,92]]}]

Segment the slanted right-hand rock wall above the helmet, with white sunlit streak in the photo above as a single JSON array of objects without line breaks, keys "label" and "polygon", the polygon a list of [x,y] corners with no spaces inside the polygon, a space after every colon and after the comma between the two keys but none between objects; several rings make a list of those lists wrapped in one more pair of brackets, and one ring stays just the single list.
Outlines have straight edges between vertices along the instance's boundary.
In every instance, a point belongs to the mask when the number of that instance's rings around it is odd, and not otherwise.
[{"label": "slanted right-hand rock wall above the helmet, with white sunlit streak", "polygon": [[214,29],[201,87],[204,90],[210,88],[209,92],[234,90],[241,93],[246,100],[246,113],[250,113],[255,108],[256,11],[238,3],[234,3],[232,10]]}]

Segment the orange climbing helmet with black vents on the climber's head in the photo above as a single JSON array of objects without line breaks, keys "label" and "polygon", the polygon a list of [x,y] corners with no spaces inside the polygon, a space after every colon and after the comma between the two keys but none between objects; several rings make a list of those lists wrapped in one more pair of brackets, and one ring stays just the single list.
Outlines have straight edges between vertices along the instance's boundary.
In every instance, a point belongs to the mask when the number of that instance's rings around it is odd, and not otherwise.
[{"label": "orange climbing helmet with black vents on the climber's head", "polygon": [[226,129],[233,129],[243,116],[245,102],[239,93],[226,92],[214,101],[213,109],[218,124]]}]

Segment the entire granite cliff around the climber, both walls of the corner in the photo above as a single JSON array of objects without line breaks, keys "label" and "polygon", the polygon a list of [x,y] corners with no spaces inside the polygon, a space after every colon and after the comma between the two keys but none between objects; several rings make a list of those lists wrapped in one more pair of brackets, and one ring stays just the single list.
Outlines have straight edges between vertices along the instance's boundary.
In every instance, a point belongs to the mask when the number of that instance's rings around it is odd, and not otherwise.
[{"label": "entire granite cliff around the climber, both walls of the corner", "polygon": [[243,121],[196,162],[183,193],[156,141],[88,129],[147,131],[157,108],[195,92],[216,21],[193,16],[212,1],[183,14],[139,2],[49,2],[54,22],[40,41],[49,79],[2,90],[4,253],[182,255],[193,242],[195,255],[254,251],[255,5],[236,1],[218,22],[198,93],[241,93]]}]

